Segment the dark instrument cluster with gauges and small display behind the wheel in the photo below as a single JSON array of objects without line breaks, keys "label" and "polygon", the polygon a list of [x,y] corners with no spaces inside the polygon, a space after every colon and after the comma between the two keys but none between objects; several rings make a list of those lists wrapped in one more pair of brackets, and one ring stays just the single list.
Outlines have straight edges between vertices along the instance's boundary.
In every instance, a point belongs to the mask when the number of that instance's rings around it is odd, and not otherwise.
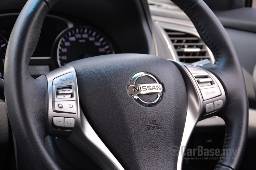
[{"label": "dark instrument cluster with gauges and small display behind the wheel", "polygon": [[[11,30],[19,13],[0,15],[0,78],[3,78],[5,53]],[[82,58],[120,53],[114,40],[101,28],[74,17],[47,15],[29,63],[37,78],[51,70]]]}]

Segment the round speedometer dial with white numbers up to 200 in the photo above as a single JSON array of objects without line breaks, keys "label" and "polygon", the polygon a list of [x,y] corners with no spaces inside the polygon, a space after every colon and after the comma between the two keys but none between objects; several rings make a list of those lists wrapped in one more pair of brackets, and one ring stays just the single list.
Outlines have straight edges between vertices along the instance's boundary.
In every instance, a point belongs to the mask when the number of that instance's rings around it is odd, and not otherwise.
[{"label": "round speedometer dial with white numbers up to 200", "polygon": [[114,54],[106,36],[92,27],[75,27],[61,37],[57,50],[59,66],[82,58]]}]

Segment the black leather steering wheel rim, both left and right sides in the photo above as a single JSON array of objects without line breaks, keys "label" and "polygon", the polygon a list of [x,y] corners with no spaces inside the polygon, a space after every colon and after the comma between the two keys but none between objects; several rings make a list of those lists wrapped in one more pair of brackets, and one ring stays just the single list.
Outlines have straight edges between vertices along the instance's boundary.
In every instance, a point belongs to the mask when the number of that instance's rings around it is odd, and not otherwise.
[{"label": "black leather steering wheel rim, both left and right sides", "polygon": [[[55,2],[29,0],[14,25],[6,51],[4,83],[10,124],[17,145],[24,155],[34,158],[29,163],[36,169],[60,169],[44,143],[48,129],[46,76],[33,79],[28,71],[43,20]],[[189,16],[213,52],[215,64],[206,69],[215,74],[226,92],[226,107],[218,115],[226,123],[223,148],[237,148],[237,154],[234,159],[221,158],[215,169],[238,169],[248,129],[248,97],[238,57],[225,29],[203,1],[173,2]]]}]

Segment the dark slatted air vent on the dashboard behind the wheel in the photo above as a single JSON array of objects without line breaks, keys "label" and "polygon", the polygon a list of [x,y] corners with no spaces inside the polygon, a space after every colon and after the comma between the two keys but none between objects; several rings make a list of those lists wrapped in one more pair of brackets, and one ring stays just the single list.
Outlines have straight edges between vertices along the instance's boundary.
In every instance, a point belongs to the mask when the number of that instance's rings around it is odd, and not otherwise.
[{"label": "dark slatted air vent on the dashboard behind the wheel", "polygon": [[190,33],[165,29],[181,62],[193,63],[209,59],[209,52],[203,41]]}]

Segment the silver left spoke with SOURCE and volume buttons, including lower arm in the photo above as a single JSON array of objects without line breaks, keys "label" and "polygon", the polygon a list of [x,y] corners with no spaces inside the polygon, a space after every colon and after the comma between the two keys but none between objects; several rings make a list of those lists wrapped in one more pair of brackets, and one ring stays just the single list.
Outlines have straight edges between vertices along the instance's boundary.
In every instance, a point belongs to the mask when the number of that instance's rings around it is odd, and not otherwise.
[{"label": "silver left spoke with SOURCE and volume buttons, including lower arm", "polygon": [[69,139],[104,169],[123,170],[83,114],[74,67],[62,66],[46,74],[46,78],[49,135]]}]

